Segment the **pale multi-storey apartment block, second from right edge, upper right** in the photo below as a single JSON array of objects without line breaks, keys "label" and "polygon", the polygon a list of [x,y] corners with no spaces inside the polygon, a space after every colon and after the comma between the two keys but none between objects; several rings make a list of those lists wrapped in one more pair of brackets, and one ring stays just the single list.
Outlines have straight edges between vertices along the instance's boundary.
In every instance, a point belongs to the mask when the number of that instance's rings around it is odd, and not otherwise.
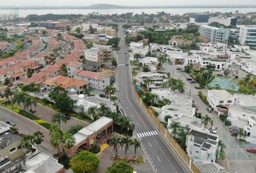
[{"label": "pale multi-storey apartment block, second from right edge, upper right", "polygon": [[210,27],[207,25],[200,26],[199,33],[208,37],[210,41],[216,43],[228,43],[230,29]]}]

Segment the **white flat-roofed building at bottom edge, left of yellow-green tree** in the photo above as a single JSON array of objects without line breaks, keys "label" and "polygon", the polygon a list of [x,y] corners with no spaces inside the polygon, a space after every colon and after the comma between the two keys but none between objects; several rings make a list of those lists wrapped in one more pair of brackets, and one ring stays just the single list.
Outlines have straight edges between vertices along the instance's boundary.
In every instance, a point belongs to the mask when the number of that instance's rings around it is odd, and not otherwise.
[{"label": "white flat-roofed building at bottom edge, left of yellow-green tree", "polygon": [[25,161],[25,173],[64,173],[64,166],[58,160],[40,152]]}]

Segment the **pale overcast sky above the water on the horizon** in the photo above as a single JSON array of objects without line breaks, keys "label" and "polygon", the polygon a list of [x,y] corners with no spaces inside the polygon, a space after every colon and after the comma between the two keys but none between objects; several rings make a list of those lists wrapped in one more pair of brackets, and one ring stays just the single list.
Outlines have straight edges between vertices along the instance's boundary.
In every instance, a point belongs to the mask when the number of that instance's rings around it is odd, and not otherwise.
[{"label": "pale overcast sky above the water on the horizon", "polygon": [[125,6],[256,5],[256,0],[0,0],[0,6],[89,6],[116,4]]}]

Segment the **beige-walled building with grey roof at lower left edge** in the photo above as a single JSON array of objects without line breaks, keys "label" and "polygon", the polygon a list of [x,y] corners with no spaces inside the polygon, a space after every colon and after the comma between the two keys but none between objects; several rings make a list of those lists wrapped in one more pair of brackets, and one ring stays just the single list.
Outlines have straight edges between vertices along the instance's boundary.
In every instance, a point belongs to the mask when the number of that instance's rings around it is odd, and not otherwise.
[{"label": "beige-walled building with grey roof at lower left edge", "polygon": [[12,133],[9,125],[0,122],[0,170],[11,161],[24,155],[22,148],[22,136]]}]

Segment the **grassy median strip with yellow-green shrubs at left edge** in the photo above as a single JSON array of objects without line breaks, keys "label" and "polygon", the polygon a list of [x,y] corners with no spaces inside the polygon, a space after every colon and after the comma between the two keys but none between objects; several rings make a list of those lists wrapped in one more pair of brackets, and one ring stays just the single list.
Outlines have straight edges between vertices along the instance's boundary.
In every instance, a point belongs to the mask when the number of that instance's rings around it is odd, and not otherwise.
[{"label": "grassy median strip with yellow-green shrubs at left edge", "polygon": [[39,125],[43,126],[44,128],[48,129],[51,128],[51,123],[46,122],[46,120],[42,120],[38,117],[35,117],[35,115],[30,114],[29,112],[22,110],[20,107],[14,104],[5,104],[3,101],[0,101],[0,106],[7,108],[8,110],[12,110],[13,112],[16,112],[17,114],[20,114],[24,117],[27,117],[30,120],[33,120],[35,123],[38,123]]}]

